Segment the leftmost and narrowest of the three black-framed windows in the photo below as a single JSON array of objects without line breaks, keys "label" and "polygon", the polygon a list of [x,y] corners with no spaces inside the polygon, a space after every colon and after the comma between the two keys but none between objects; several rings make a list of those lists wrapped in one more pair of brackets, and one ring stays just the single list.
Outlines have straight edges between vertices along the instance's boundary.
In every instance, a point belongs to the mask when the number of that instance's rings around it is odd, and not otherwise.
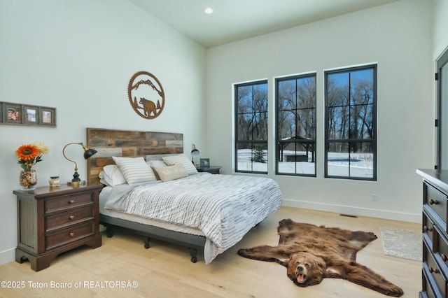
[{"label": "leftmost and narrowest of the three black-framed windows", "polygon": [[235,85],[235,171],[267,173],[267,80]]}]

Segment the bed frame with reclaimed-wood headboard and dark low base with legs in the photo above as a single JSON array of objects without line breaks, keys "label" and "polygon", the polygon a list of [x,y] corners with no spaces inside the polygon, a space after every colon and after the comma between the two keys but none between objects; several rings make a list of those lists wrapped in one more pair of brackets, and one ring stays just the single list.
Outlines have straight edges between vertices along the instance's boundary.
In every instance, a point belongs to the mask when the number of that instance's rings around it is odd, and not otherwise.
[{"label": "bed frame with reclaimed-wood headboard and dark low base with legs", "polygon": [[[87,159],[87,183],[99,183],[99,173],[108,164],[115,164],[113,156],[144,157],[146,161],[183,153],[183,134],[165,132],[134,132],[116,129],[87,127],[87,148],[97,154]],[[149,248],[150,239],[167,241],[190,248],[191,262],[197,262],[197,250],[204,250],[205,237],[174,232],[138,222],[113,218],[99,214],[99,223],[106,227],[107,236],[112,237],[116,229],[144,236],[144,248]]]}]

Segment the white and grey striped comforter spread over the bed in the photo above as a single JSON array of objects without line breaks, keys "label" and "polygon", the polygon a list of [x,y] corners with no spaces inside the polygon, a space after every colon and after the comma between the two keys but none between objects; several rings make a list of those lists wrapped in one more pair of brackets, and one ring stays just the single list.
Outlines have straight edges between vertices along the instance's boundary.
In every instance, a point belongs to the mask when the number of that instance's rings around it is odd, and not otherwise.
[{"label": "white and grey striped comforter spread over the bed", "polygon": [[209,264],[258,222],[277,211],[282,196],[270,178],[198,173],[164,183],[113,187],[105,208],[200,230]]}]

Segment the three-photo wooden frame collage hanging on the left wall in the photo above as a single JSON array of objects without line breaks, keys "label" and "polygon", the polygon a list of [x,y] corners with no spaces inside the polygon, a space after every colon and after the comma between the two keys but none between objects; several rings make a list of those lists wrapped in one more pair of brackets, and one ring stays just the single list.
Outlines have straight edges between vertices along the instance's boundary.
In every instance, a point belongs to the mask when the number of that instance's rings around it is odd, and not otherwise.
[{"label": "three-photo wooden frame collage hanging on the left wall", "polygon": [[56,127],[56,108],[0,101],[0,125]]}]

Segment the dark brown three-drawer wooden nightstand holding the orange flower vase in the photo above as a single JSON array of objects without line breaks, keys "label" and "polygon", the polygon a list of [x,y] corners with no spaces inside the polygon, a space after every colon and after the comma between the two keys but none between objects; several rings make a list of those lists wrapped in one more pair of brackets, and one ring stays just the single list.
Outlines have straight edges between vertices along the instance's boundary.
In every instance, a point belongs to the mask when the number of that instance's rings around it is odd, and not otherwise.
[{"label": "dark brown three-drawer wooden nightstand holding the orange flower vase", "polygon": [[28,259],[31,269],[40,271],[67,250],[101,246],[98,196],[102,187],[60,185],[14,190],[18,212],[15,261]]}]

